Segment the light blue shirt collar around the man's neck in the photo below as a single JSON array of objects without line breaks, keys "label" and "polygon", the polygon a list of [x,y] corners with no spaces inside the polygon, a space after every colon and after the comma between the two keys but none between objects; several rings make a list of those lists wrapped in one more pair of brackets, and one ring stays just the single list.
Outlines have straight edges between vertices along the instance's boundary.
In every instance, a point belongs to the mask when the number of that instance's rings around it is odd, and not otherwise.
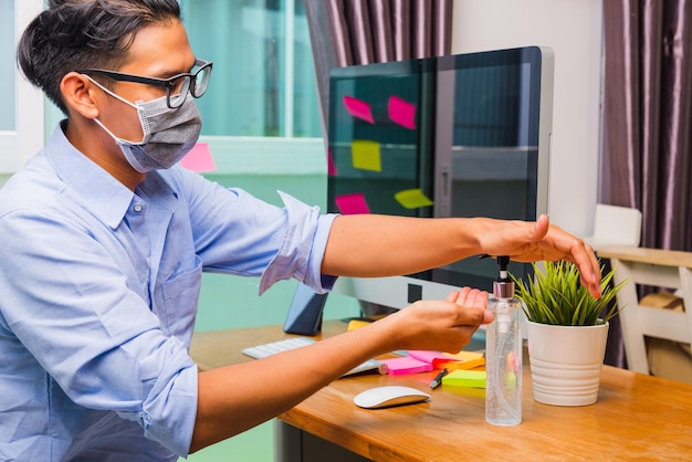
[{"label": "light blue shirt collar around the man's neck", "polygon": [[80,153],[63,133],[63,120],[46,145],[55,174],[83,198],[83,207],[101,221],[116,229],[123,221],[134,192],[111,174]]}]

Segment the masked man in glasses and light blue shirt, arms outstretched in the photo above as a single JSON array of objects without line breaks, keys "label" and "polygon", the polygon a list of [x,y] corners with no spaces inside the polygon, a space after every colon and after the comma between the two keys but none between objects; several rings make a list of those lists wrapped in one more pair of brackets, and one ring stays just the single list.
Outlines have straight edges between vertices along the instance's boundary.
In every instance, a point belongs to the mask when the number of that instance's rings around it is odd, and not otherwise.
[{"label": "masked man in glasses and light blue shirt, arms outstretched", "polygon": [[50,1],[18,62],[67,118],[0,190],[2,460],[174,461],[370,357],[455,351],[492,321],[487,294],[464,287],[314,346],[198,372],[188,346],[202,270],[259,276],[261,292],[289,277],[327,291],[338,275],[489,253],[575,261],[599,295],[590,248],[546,217],[321,216],[175,167],[197,141],[195,97],[211,72],[176,0]]}]

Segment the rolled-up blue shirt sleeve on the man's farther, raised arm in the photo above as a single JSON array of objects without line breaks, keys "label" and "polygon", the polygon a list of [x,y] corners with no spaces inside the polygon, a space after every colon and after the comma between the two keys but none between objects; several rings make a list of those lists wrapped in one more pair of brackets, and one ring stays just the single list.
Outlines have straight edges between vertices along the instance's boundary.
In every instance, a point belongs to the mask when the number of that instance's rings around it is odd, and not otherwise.
[{"label": "rolled-up blue shirt sleeve on the man's farther, raised arm", "polygon": [[190,214],[205,271],[260,277],[260,294],[277,281],[296,279],[317,292],[336,277],[323,275],[322,261],[336,216],[321,214],[279,191],[284,207],[242,189],[191,181]]}]

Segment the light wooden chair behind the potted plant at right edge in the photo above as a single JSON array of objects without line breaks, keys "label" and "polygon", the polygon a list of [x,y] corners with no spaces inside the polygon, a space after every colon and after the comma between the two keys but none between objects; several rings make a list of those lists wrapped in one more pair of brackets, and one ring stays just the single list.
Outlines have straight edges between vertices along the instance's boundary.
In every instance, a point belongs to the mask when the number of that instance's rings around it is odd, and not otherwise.
[{"label": "light wooden chair behind the potted plant at right edge", "polygon": [[[631,281],[617,295],[625,353],[630,370],[650,374],[644,337],[683,344],[692,340],[692,252],[611,246],[600,249],[598,254],[610,259],[615,284]],[[678,290],[685,309],[642,305],[637,284]]]}]

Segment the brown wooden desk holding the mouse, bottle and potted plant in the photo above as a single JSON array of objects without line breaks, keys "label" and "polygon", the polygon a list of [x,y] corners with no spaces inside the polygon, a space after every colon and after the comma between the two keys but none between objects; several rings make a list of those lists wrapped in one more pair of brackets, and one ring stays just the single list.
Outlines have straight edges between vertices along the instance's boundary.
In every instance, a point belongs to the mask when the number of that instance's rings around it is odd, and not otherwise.
[{"label": "brown wooden desk holding the mouse, bottle and potted plant", "polygon": [[[326,322],[324,335],[345,324]],[[281,326],[199,333],[191,355],[210,368],[250,360],[240,350],[284,337]],[[527,359],[527,358],[525,358]],[[563,408],[533,400],[524,366],[523,422],[485,423],[484,390],[442,386],[429,402],[365,410],[353,403],[375,386],[429,391],[433,372],[343,378],[280,419],[375,461],[594,461],[692,459],[692,386],[604,366],[596,405]]]}]

